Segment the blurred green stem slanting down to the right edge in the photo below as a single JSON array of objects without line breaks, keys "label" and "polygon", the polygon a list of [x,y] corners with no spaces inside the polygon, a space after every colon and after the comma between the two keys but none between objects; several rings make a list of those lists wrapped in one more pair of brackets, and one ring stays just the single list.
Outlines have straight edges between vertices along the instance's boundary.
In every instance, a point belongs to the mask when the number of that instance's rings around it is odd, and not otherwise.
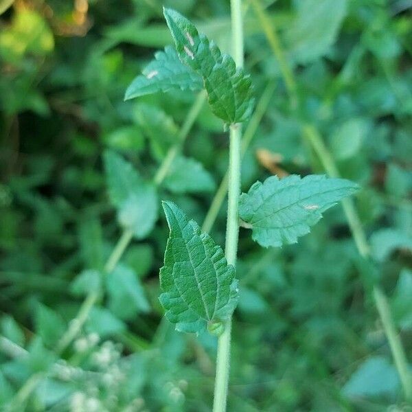
[{"label": "blurred green stem slanting down to the right edge", "polygon": [[[323,168],[325,171],[333,177],[339,177],[339,170],[334,163],[334,159],[328,148],[323,143],[321,135],[318,133],[311,125],[304,126],[304,135],[306,139],[310,142],[314,152],[316,152],[319,157]],[[358,253],[364,259],[370,259],[370,249],[363,230],[361,219],[358,216],[354,201],[351,198],[346,198],[342,201],[343,211],[350,227],[352,237],[354,238],[356,248]],[[398,331],[396,330],[395,323],[391,316],[391,309],[389,307],[388,299],[379,288],[377,284],[372,286],[372,295],[374,296],[374,301],[380,320],[382,321],[383,329],[387,336],[389,347],[391,348],[391,354],[393,356],[393,361],[395,362],[396,369],[400,376],[400,381],[402,382],[402,389],[404,391],[405,399],[408,402],[412,402],[412,374],[409,371],[407,356],[402,346],[402,341]]]}]

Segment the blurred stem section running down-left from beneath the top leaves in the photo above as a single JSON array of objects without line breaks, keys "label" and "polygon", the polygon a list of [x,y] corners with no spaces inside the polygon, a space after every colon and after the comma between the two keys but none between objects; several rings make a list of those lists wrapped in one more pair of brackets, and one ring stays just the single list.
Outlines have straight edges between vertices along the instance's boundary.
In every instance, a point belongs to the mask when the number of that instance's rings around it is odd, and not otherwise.
[{"label": "blurred stem section running down-left from beneath the top leaves", "polygon": [[176,144],[174,144],[172,148],[170,148],[170,150],[168,151],[168,154],[163,159],[163,162],[161,163],[159,169],[157,170],[157,173],[155,174],[155,177],[153,179],[153,182],[155,183],[155,185],[157,186],[161,185],[166,175],[168,174],[170,166],[172,165],[174,159],[176,159],[176,156],[179,155],[181,147],[187,135],[189,134],[190,129],[192,128],[199,113],[201,113],[201,110],[202,110],[203,104],[205,104],[205,101],[206,101],[206,93],[205,91],[201,91],[197,95],[197,98],[194,101],[194,104],[190,108],[189,113],[187,113],[185,122],[183,123],[181,129],[179,130],[179,133],[176,136],[176,139],[177,139]]}]

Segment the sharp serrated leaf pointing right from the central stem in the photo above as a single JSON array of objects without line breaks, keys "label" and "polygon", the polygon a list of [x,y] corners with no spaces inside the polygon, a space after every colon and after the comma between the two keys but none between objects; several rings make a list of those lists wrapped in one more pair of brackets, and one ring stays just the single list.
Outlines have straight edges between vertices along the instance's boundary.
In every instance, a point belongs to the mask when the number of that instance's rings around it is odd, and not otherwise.
[{"label": "sharp serrated leaf pointing right from the central stem", "polygon": [[263,247],[297,242],[319,222],[322,212],[358,188],[346,179],[293,174],[279,180],[271,176],[256,182],[240,196],[239,215]]}]

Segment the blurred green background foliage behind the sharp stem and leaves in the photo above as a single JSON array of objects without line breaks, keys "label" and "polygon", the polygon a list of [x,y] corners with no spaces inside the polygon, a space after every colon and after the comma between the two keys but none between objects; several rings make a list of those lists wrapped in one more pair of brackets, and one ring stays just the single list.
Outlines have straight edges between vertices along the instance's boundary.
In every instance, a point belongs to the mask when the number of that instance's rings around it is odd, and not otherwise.
[{"label": "blurred green background foliage behind the sharp stem and leaves", "polygon": [[[284,60],[273,56],[256,4],[244,1],[246,67],[257,100],[274,91],[244,157],[242,190],[271,174],[323,172],[306,138],[315,130],[342,176],[363,187],[356,205],[376,265],[361,264],[341,207],[282,249],[260,249],[242,229],[229,410],[409,411],[369,283],[389,295],[411,359],[412,3],[266,1]],[[19,0],[0,16],[5,410],[209,411],[216,339],[177,333],[162,318],[168,229],[152,185],[140,199],[147,215],[124,206],[134,183],[155,176],[195,99],[172,91],[123,101],[155,50],[172,43],[162,5]],[[228,2],[164,5],[229,52]],[[205,106],[161,198],[202,222],[227,144]],[[122,224],[133,242],[102,277]],[[219,244],[224,228],[222,207],[211,230]],[[91,290],[104,295],[58,353]]]}]

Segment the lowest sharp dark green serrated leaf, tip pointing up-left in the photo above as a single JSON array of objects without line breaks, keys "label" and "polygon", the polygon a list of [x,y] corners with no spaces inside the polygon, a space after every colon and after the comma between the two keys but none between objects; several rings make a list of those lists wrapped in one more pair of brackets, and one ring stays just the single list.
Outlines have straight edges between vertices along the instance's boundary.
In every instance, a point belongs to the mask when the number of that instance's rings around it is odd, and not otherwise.
[{"label": "lowest sharp dark green serrated leaf, tip pointing up-left", "polygon": [[172,202],[163,202],[170,228],[159,299],[176,330],[201,332],[228,319],[238,301],[235,269],[222,248]]}]

